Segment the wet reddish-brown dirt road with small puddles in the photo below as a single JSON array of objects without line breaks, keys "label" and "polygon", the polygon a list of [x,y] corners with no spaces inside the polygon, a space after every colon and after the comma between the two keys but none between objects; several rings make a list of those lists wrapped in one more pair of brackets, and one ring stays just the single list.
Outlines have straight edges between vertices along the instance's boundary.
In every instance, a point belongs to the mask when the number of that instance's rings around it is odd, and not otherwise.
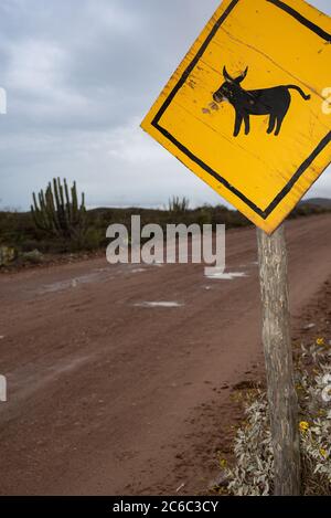
[{"label": "wet reddish-brown dirt road with small puddles", "polygon": [[[288,223],[291,308],[331,273],[331,216]],[[259,376],[254,230],[227,233],[232,281],[203,266],[94,260],[0,276],[0,493],[190,494]],[[149,307],[146,303],[178,303]],[[173,307],[172,307],[173,306]]]}]

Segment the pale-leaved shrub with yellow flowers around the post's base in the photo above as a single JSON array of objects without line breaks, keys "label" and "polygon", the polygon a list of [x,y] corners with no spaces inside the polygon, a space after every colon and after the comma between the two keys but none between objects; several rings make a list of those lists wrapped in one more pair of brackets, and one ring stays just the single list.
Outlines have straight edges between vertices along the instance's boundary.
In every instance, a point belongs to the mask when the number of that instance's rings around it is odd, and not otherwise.
[{"label": "pale-leaved shrub with yellow flowers around the post's base", "polygon": [[[313,364],[313,369],[306,366]],[[300,445],[303,495],[331,494],[331,411],[322,398],[325,374],[331,372],[331,348],[319,339],[302,347],[297,364],[296,383],[300,411]],[[245,408],[245,422],[234,443],[235,463],[223,461],[227,490],[236,496],[273,494],[274,453],[269,427],[268,402],[258,391]]]}]

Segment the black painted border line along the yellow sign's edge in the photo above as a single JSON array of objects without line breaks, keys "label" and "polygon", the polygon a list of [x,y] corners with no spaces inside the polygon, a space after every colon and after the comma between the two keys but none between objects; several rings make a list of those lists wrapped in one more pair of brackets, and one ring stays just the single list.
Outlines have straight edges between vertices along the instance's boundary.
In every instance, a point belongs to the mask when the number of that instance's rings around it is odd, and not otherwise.
[{"label": "black painted border line along the yellow sign's edge", "polygon": [[[228,189],[233,194],[235,194],[237,198],[239,198],[246,205],[248,205],[256,214],[258,214],[260,218],[266,220],[273,212],[274,210],[279,205],[281,200],[291,191],[293,186],[297,183],[297,181],[301,178],[303,172],[311,166],[313,160],[319,156],[319,154],[328,146],[328,144],[331,141],[331,131],[320,141],[320,144],[317,146],[317,148],[312,151],[312,154],[301,163],[299,169],[295,172],[292,178],[289,180],[289,182],[286,184],[286,187],[277,194],[277,197],[273,200],[273,202],[267,207],[267,209],[261,210],[259,209],[255,203],[253,203],[245,194],[243,194],[241,191],[238,191],[234,186],[232,186],[225,178],[221,177],[216,171],[214,171],[211,167],[209,167],[206,163],[204,163],[200,158],[195,157],[193,152],[191,152],[185,146],[183,146],[179,140],[177,140],[173,135],[171,135],[166,128],[163,128],[159,121],[161,117],[164,115],[167,112],[168,107],[172,103],[173,98],[178,94],[178,92],[181,89],[181,87],[185,84],[188,77],[190,74],[193,72],[195,68],[196,64],[205,53],[206,49],[209,47],[210,43],[212,42],[213,38],[217,33],[218,29],[221,28],[222,23],[227,19],[227,17],[231,14],[231,12],[234,10],[234,8],[237,6],[237,3],[241,0],[233,0],[226,10],[223,12],[221,18],[216,21],[214,24],[213,29],[211,30],[210,34],[207,35],[206,40],[200,47],[199,52],[196,55],[193,57],[186,70],[183,72],[182,76],[180,77],[179,82],[174,86],[174,88],[171,91],[164,103],[162,104],[161,108],[157,113],[156,117],[152,120],[152,126],[158,129],[169,141],[171,141],[178,149],[180,149],[190,160],[193,162],[197,163],[202,169],[204,169],[211,177],[216,179],[220,183],[222,183],[226,189]],[[320,27],[316,25],[305,17],[302,17],[298,11],[286,4],[285,2],[280,0],[266,0],[269,3],[273,3],[275,7],[284,10],[287,12],[289,15],[293,17],[299,23],[302,25],[307,27],[310,29],[312,32],[318,34],[320,38],[325,40],[327,42],[331,42],[331,34],[327,33],[323,31]]]}]

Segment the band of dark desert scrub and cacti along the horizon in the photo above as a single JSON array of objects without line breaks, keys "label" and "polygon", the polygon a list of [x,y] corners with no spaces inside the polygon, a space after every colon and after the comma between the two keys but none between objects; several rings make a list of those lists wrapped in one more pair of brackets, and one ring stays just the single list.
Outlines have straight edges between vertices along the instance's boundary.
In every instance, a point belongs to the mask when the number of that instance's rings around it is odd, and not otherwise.
[{"label": "band of dark desert scrub and cacti along the horizon", "polygon": [[[40,263],[45,255],[90,253],[108,244],[106,230],[113,223],[130,229],[131,215],[141,224],[158,223],[164,230],[169,223],[225,224],[227,229],[247,226],[250,222],[239,212],[223,205],[190,208],[186,198],[173,197],[160,210],[140,208],[98,208],[87,210],[85,195],[81,200],[76,182],[53,179],[45,190],[32,194],[30,212],[0,211],[0,265]],[[329,211],[314,204],[300,204],[291,218]]]}]

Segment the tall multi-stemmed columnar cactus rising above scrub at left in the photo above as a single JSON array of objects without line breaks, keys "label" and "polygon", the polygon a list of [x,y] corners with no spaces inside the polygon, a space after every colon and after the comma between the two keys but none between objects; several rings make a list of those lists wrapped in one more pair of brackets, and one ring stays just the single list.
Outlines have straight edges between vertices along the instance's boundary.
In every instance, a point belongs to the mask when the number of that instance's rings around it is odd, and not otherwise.
[{"label": "tall multi-stemmed columnar cactus rising above scrub at left", "polygon": [[31,213],[36,228],[51,235],[72,240],[83,237],[86,231],[85,195],[78,205],[76,182],[70,191],[65,179],[62,184],[54,178],[45,192],[33,192]]}]

